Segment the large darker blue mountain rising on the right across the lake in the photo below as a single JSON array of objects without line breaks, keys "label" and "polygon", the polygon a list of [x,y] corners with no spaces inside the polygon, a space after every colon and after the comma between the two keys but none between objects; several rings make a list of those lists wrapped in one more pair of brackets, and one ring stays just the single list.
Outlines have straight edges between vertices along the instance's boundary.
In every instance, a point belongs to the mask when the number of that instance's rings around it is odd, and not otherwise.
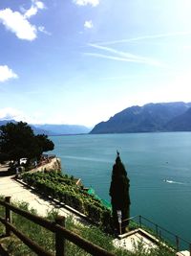
[{"label": "large darker blue mountain rising on the right across the lake", "polygon": [[191,103],[159,103],[127,107],[91,130],[97,133],[191,130]]}]

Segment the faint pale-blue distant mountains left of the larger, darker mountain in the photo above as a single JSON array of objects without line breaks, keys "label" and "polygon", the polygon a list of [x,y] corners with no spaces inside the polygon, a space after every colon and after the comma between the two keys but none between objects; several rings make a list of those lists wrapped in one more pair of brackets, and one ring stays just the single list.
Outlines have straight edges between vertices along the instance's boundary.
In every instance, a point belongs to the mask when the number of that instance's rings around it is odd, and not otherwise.
[{"label": "faint pale-blue distant mountains left of the larger, darker mountain", "polygon": [[[0,120],[0,126],[8,123],[17,123],[15,120]],[[72,135],[89,133],[91,128],[77,125],[30,125],[34,134]]]}]

